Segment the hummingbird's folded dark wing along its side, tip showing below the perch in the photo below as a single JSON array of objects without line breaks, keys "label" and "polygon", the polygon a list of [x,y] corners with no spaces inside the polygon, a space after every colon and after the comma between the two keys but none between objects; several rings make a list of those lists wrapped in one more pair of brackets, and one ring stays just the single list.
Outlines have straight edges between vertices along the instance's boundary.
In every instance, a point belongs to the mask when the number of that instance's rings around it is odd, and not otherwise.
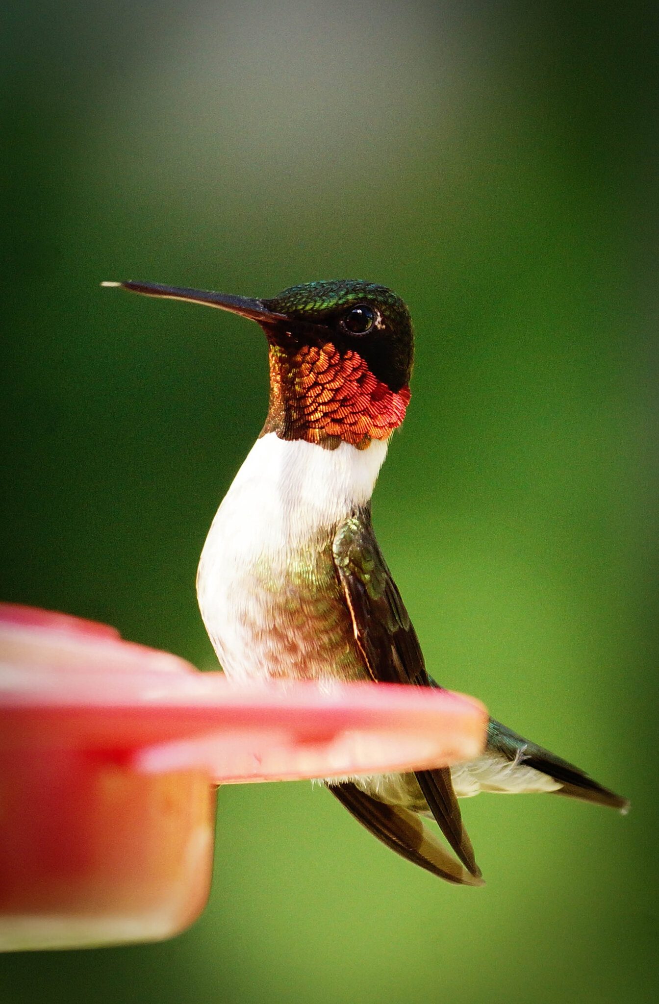
[{"label": "hummingbird's folded dark wing along its side, tip showing below the perch", "polygon": [[[375,538],[370,507],[364,507],[339,527],[334,557],[355,640],[373,679],[378,683],[432,686],[416,632]],[[417,771],[415,776],[449,844],[471,874],[480,877],[471,841],[462,825],[449,768]],[[341,798],[336,790],[335,794]],[[359,818],[375,832],[373,806],[367,805],[366,797],[362,796]],[[349,806],[355,814],[356,798],[353,794],[353,805]],[[379,830],[381,839],[393,846],[384,835],[383,825]]]}]

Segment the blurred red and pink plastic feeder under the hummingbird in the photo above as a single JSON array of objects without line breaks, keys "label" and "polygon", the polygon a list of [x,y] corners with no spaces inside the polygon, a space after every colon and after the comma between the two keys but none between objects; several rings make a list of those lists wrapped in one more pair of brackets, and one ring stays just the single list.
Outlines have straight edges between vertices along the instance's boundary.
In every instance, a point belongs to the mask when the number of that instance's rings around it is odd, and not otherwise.
[{"label": "blurred red and pink plastic feeder under the hummingbird", "polygon": [[448,765],[486,722],[445,691],[238,688],[0,604],[0,949],[171,937],[208,898],[217,784]]}]

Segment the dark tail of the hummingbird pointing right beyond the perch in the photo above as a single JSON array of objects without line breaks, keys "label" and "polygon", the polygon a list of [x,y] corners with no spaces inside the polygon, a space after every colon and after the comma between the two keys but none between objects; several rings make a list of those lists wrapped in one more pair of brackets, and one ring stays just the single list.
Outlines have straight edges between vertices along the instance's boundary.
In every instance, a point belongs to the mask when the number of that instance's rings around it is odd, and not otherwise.
[{"label": "dark tail of the hummingbird pointing right beyond the perch", "polygon": [[567,760],[563,760],[541,746],[528,742],[493,718],[490,718],[487,728],[487,749],[500,754],[510,762],[518,760],[524,767],[532,767],[554,778],[562,785],[555,792],[557,795],[571,795],[573,798],[596,802],[598,805],[609,805],[611,808],[620,809],[621,812],[626,812],[629,808],[629,801],[626,798],[598,784],[579,767],[575,767],[574,764],[568,763]]}]

